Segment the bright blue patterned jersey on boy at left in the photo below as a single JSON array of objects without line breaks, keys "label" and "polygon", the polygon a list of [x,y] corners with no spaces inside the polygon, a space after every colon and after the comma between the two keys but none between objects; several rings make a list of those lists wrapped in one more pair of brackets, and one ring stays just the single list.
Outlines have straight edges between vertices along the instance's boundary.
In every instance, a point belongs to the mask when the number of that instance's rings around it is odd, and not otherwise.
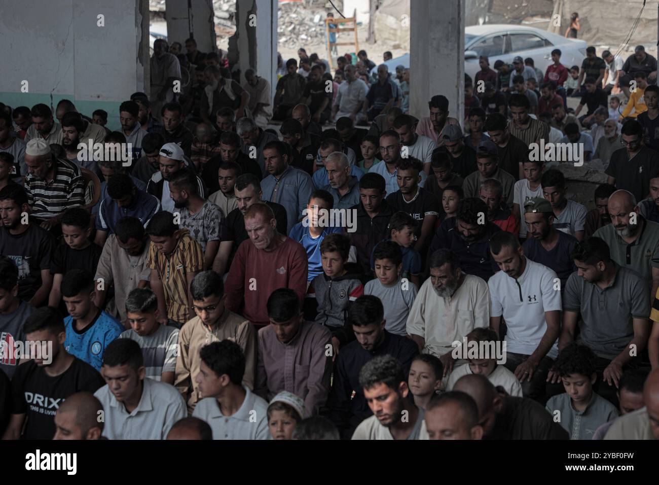
[{"label": "bright blue patterned jersey on boy at left", "polygon": [[64,319],[64,325],[67,329],[64,348],[69,354],[84,360],[98,372],[101,372],[103,365],[105,347],[125,331],[124,326],[105,311],[101,311],[82,332],[74,329],[71,315]]}]

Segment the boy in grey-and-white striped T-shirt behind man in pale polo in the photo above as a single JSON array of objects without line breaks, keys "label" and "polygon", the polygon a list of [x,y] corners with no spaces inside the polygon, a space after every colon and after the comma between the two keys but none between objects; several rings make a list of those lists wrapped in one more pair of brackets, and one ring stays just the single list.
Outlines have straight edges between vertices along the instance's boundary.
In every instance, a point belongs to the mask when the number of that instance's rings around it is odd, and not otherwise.
[{"label": "boy in grey-and-white striped T-shirt behind man in pale polo", "polygon": [[135,340],[142,349],[144,368],[149,379],[174,383],[179,329],[160,325],[158,296],[150,288],[135,288],[126,298],[130,329],[122,339]]}]

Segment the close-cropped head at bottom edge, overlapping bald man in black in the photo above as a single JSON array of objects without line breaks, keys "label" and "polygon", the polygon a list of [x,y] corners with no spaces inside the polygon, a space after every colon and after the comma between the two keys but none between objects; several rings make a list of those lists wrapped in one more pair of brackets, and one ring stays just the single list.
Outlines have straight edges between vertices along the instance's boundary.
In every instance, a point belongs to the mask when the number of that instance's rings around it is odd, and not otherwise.
[{"label": "close-cropped head at bottom edge, overlapping bald man in black", "polygon": [[450,391],[430,401],[426,408],[429,439],[482,439],[478,406],[467,393]]}]

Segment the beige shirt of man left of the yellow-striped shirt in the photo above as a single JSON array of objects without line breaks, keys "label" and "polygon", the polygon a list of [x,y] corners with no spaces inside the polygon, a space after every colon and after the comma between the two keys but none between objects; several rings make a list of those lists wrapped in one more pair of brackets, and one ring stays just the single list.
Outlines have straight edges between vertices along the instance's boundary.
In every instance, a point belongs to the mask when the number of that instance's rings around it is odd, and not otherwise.
[{"label": "beige shirt of man left of the yellow-striped shirt", "polygon": [[103,278],[105,288],[109,286],[110,282],[115,283],[115,298],[106,302],[105,311],[115,318],[119,317],[119,321],[126,320],[128,294],[137,288],[140,280],[149,281],[151,279],[151,270],[146,267],[148,254],[148,243],[144,244],[142,254],[131,256],[121,249],[116,234],[107,236],[94,279],[98,284],[98,278]]}]

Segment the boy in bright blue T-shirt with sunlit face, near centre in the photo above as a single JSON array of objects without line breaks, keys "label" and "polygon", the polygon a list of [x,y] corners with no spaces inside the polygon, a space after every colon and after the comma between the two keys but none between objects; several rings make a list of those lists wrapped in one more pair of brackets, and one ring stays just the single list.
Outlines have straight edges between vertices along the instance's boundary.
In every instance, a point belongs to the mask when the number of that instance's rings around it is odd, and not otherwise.
[{"label": "boy in bright blue T-shirt with sunlit face, near centre", "polygon": [[304,220],[291,228],[289,238],[301,243],[308,259],[307,282],[323,273],[320,243],[325,236],[334,232],[343,232],[341,228],[330,227],[329,211],[334,207],[334,198],[326,190],[318,189],[311,193],[306,205]]}]

